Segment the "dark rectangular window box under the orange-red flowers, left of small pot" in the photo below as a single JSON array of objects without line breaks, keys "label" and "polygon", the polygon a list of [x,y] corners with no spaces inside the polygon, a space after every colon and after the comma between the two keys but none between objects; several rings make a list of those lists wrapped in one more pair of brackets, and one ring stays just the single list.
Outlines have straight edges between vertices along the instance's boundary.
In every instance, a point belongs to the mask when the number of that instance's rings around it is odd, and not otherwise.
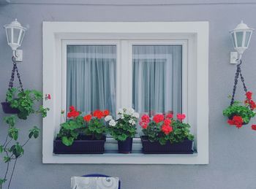
[{"label": "dark rectangular window box under the orange-red flowers, left of small pot", "polygon": [[66,146],[60,138],[53,141],[55,154],[102,154],[105,151],[106,136],[102,139],[91,139],[90,136],[80,136],[71,146]]}]

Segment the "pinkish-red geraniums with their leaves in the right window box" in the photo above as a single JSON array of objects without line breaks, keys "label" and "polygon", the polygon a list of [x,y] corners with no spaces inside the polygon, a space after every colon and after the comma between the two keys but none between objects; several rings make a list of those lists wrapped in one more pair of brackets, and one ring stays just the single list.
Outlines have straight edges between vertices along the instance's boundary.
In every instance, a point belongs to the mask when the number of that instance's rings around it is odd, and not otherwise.
[{"label": "pinkish-red geraniums with their leaves in the right window box", "polygon": [[140,119],[140,126],[143,128],[143,134],[148,137],[150,142],[159,142],[159,144],[183,142],[184,139],[193,140],[194,136],[190,134],[189,124],[183,123],[186,115],[178,114],[177,120],[173,119],[173,114],[157,114],[152,120],[148,115],[143,115]]}]

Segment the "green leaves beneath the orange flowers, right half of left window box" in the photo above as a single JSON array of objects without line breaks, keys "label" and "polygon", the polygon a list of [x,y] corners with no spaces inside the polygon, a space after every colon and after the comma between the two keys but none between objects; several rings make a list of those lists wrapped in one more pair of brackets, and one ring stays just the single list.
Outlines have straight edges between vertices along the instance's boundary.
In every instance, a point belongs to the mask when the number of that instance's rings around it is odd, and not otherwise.
[{"label": "green leaves beneath the orange flowers, right half of left window box", "polygon": [[84,134],[87,136],[92,136],[92,139],[102,139],[103,134],[106,131],[106,126],[103,119],[97,117],[92,117],[89,123],[83,130]]}]

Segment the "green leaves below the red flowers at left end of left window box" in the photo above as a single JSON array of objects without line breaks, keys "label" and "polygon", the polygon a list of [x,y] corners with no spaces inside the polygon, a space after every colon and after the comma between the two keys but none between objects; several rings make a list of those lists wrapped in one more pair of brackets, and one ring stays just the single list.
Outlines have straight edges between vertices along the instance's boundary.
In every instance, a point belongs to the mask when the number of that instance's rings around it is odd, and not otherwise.
[{"label": "green leaves below the red flowers at left end of left window box", "polygon": [[78,139],[79,134],[84,130],[84,121],[82,116],[75,117],[67,120],[65,123],[61,123],[61,129],[57,137],[61,138],[61,141],[66,146],[71,146],[75,139]]}]

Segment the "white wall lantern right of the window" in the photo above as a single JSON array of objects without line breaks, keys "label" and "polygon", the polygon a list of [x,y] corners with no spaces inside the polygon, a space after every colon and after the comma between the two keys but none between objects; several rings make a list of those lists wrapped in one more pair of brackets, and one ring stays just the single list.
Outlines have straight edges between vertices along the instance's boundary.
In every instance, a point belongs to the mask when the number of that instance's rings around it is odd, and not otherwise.
[{"label": "white wall lantern right of the window", "polygon": [[241,61],[242,54],[249,46],[249,42],[254,29],[249,28],[243,21],[230,31],[233,40],[233,47],[236,52],[230,53],[230,63],[238,63]]}]

